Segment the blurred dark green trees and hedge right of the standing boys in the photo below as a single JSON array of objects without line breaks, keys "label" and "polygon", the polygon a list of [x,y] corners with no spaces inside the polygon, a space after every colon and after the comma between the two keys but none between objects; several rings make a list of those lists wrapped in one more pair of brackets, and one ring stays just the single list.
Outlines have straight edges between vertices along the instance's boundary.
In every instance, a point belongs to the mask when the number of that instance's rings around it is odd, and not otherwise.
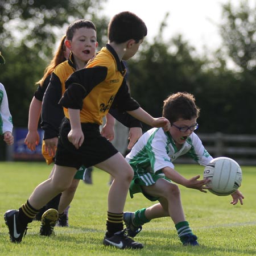
[{"label": "blurred dark green trees and hedge right of the standing boys", "polygon": [[[131,94],[154,117],[162,112],[163,100],[170,94],[187,91],[201,108],[201,133],[254,134],[256,115],[256,26],[255,8],[247,1],[223,6],[220,31],[224,46],[213,58],[198,56],[195,49],[176,36],[162,42],[159,34],[146,44],[139,58],[129,61]],[[160,28],[163,32],[164,23]],[[229,53],[229,56],[225,54]],[[227,67],[229,58],[234,69]],[[239,66],[239,69],[237,68]],[[144,126],[144,129],[149,127]]]}]

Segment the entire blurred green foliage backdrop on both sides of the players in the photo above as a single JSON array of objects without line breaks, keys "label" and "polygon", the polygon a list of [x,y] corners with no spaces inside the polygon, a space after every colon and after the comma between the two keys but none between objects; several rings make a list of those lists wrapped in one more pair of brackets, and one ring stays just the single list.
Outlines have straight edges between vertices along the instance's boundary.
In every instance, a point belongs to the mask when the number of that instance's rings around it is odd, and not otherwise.
[{"label": "entire blurred green foliage backdrop on both sides of the players", "polygon": [[[60,31],[75,19],[92,19],[99,48],[105,45],[109,18],[98,15],[105,1],[0,0],[0,50],[6,57],[1,82],[7,89],[15,126],[27,126],[34,84],[52,58],[63,33]],[[128,62],[132,96],[158,117],[169,94],[187,91],[195,94],[201,108],[201,133],[254,134],[255,14],[255,7],[249,7],[247,1],[236,7],[232,2],[224,5],[220,24],[224,44],[209,57],[199,56],[181,35],[164,42],[167,13],[154,42],[145,40],[142,50]],[[230,58],[235,64],[233,70],[227,66]],[[144,129],[148,127],[144,125]]]}]

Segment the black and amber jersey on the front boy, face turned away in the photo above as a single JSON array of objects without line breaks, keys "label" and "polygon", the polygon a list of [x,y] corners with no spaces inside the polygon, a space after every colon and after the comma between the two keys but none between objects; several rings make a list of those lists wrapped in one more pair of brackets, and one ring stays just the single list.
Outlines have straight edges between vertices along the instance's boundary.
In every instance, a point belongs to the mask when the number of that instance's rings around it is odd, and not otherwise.
[{"label": "black and amber jersey on the front boy, face turned away", "polygon": [[[107,44],[86,68],[69,77],[60,104],[65,108],[80,109],[81,123],[98,125],[102,124],[102,118],[110,107],[121,113],[138,109],[138,102],[130,97],[125,74],[125,66]],[[67,109],[64,113],[69,118]]]}]

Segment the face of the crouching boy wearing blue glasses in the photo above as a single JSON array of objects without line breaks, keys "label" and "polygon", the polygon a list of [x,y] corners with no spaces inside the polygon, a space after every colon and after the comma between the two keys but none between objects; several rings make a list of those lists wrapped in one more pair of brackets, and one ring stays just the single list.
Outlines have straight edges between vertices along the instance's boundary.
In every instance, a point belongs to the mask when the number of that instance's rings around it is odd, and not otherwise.
[{"label": "face of the crouching boy wearing blue glasses", "polygon": [[[175,143],[182,145],[189,137],[189,135],[193,133],[196,125],[196,118],[192,118],[191,120],[185,120],[180,118],[176,122],[171,123],[171,128],[169,131]],[[184,130],[186,130],[185,128],[187,128],[187,131],[180,131],[181,127],[183,127]]]}]

